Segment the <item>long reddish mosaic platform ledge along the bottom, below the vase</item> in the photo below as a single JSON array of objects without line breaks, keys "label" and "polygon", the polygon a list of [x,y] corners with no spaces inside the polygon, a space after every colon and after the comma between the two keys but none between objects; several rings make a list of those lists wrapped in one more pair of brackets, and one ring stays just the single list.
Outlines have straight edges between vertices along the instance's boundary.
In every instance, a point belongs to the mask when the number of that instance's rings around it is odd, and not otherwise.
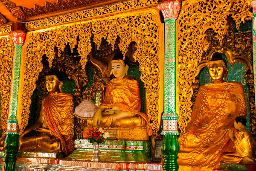
[{"label": "long reddish mosaic platform ledge along the bottom, below the vase", "polygon": [[[0,169],[3,158],[0,158]],[[163,171],[159,163],[88,162],[67,158],[18,157],[15,171]]]}]

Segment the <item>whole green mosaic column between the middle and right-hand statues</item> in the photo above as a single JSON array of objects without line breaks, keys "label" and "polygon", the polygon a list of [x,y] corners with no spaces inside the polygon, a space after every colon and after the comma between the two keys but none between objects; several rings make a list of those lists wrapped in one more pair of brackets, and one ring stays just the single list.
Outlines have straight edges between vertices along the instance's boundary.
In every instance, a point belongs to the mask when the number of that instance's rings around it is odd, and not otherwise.
[{"label": "whole green mosaic column between the middle and right-hand statues", "polygon": [[169,0],[158,6],[165,20],[165,50],[164,50],[164,113],[163,119],[163,170],[177,171],[178,128],[176,114],[176,49],[175,49],[175,20],[180,10],[180,1]]}]

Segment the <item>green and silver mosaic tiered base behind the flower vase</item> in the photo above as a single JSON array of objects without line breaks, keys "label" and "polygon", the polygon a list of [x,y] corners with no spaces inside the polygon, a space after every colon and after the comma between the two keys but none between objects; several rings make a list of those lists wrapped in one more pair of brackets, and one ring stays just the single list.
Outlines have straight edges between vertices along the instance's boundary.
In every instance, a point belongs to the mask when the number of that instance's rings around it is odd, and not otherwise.
[{"label": "green and silver mosaic tiered base behind the flower vase", "polygon": [[[76,139],[70,159],[90,161],[93,145],[87,139]],[[99,158],[102,162],[151,162],[151,142],[107,140],[99,145]]]}]

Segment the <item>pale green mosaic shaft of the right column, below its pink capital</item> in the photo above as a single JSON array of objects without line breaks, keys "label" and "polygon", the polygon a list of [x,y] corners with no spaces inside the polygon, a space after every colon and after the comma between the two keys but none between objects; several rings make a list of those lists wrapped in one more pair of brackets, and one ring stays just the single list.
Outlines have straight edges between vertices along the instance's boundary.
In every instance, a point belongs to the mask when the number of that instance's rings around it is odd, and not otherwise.
[{"label": "pale green mosaic shaft of the right column, below its pink capital", "polygon": [[175,20],[165,21],[164,113],[176,112]]}]

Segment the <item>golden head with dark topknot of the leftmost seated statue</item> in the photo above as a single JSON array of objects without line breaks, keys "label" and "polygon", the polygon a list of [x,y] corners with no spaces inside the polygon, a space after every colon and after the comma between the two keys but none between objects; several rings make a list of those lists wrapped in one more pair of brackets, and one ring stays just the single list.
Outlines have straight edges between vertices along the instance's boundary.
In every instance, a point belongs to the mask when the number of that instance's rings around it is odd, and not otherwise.
[{"label": "golden head with dark topknot of the leftmost seated statue", "polygon": [[46,75],[45,79],[45,87],[49,93],[62,93],[63,78],[57,69],[52,69],[50,75]]}]

